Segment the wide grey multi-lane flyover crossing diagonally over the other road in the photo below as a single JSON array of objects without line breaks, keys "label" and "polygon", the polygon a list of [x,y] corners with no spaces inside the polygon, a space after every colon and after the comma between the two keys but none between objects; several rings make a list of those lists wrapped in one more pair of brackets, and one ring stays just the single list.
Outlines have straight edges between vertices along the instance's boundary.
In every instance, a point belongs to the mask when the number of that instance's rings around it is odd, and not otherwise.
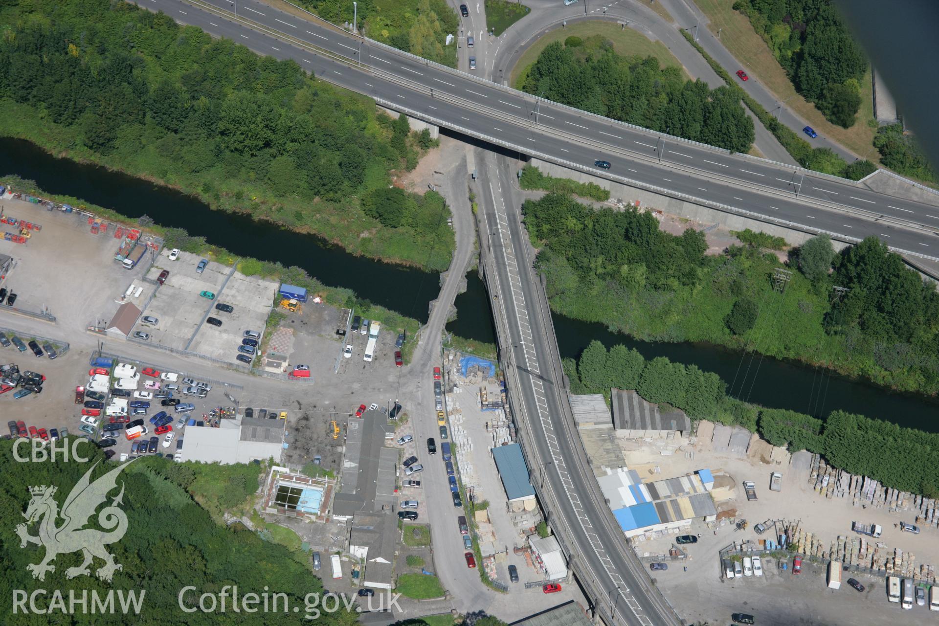
[{"label": "wide grey multi-lane flyover crossing diagonally over the other road", "polygon": [[[274,0],[275,2],[277,0]],[[532,98],[257,0],[138,0],[258,53],[296,60],[379,104],[610,180],[844,241],[939,260],[939,207]],[[282,6],[286,6],[281,3]],[[302,14],[300,9],[292,8]],[[610,170],[593,167],[608,160]],[[939,196],[937,196],[939,203]]]}]

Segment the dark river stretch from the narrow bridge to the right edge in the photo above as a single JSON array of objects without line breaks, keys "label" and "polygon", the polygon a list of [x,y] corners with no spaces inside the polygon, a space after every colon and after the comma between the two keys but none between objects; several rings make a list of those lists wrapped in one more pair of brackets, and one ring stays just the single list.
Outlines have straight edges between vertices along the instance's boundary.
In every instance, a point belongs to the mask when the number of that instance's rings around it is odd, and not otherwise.
[{"label": "dark river stretch from the narrow bridge to the right edge", "polygon": [[[485,303],[484,303],[485,301]],[[478,314],[479,307],[487,314]],[[485,287],[475,271],[467,276],[467,292],[456,299],[456,319],[447,330],[466,339],[496,343],[492,313]],[[461,316],[459,313],[463,312]],[[727,383],[731,395],[757,405],[788,408],[824,418],[835,409],[869,418],[892,421],[930,433],[939,433],[939,401],[921,395],[893,393],[822,369],[711,344],[642,342],[610,332],[602,324],[581,322],[552,313],[562,357],[576,359],[594,339],[608,348],[624,344],[645,359],[668,357],[677,363],[694,363],[715,372]]]}]

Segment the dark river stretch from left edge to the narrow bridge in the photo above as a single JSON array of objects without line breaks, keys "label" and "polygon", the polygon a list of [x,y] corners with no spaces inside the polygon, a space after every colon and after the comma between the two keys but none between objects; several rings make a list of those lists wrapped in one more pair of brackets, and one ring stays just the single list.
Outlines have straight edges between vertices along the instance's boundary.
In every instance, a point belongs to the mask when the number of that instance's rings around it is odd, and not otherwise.
[{"label": "dark river stretch from left edge to the narrow bridge", "polygon": [[319,281],[348,287],[361,298],[425,322],[437,298],[439,275],[350,254],[315,235],[304,235],[242,213],[215,211],[191,195],[97,165],[56,159],[22,139],[0,139],[0,175],[34,180],[48,193],[69,195],[129,218],[147,215],[163,225],[233,254],[302,267]]}]

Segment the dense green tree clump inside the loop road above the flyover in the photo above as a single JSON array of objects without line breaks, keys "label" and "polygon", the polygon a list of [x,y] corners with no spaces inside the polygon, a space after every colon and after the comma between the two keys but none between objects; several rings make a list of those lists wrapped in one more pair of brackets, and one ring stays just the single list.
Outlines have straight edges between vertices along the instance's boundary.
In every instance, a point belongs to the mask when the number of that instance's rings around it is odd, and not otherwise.
[{"label": "dense green tree clump inside the loop road above the flyover", "polygon": [[608,39],[549,43],[528,70],[530,94],[733,152],[753,143],[753,120],[734,90],[688,81],[653,57],[621,56]]}]

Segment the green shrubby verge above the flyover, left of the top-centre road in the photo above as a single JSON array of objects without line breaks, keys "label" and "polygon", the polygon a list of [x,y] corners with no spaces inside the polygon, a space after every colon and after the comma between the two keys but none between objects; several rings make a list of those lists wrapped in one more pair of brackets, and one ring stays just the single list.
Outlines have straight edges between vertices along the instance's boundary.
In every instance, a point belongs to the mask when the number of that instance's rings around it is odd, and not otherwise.
[{"label": "green shrubby verge above the flyover, left of the top-centre road", "polygon": [[300,0],[324,20],[343,25],[356,17],[359,30],[368,38],[387,43],[429,61],[456,67],[456,43],[447,45],[447,35],[456,34],[459,20],[446,0],[359,0],[358,16],[347,0]]}]

